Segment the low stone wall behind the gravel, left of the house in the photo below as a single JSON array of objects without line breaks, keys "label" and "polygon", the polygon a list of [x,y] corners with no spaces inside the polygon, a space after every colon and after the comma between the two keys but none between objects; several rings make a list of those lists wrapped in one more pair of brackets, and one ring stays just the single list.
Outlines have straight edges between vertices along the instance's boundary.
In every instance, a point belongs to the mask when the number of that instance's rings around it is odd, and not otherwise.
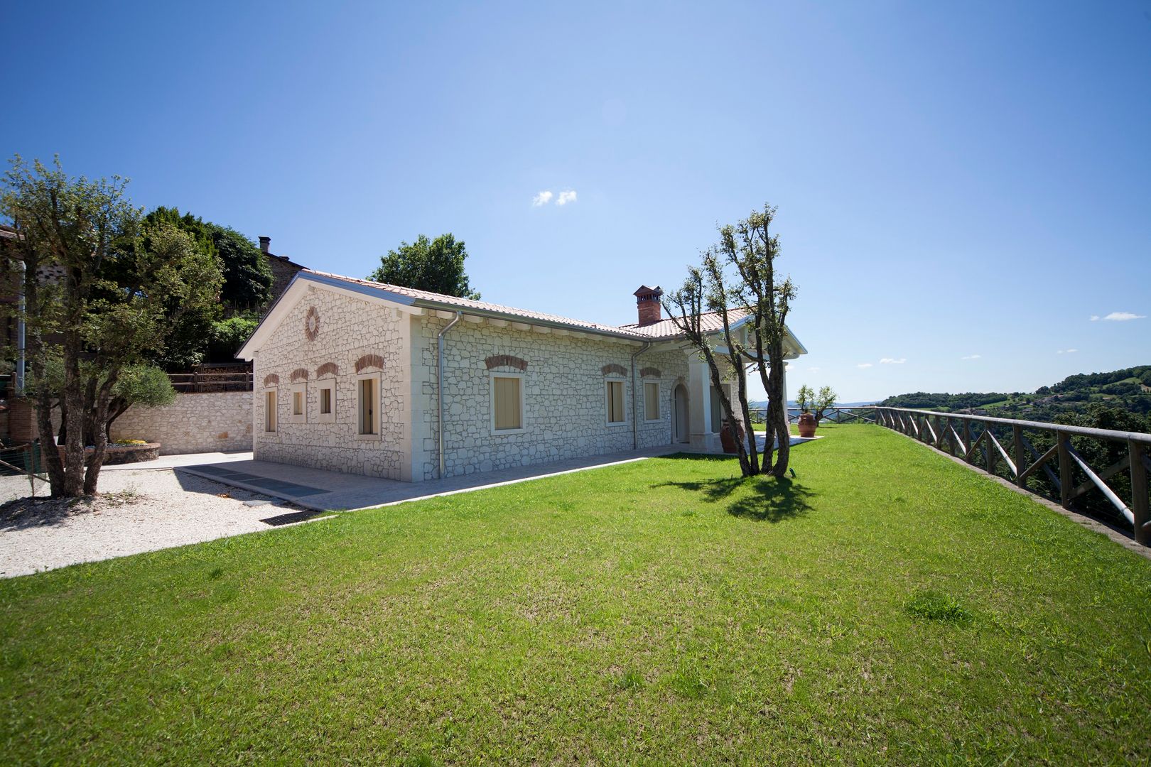
[{"label": "low stone wall behind the gravel, left of the house", "polygon": [[130,407],[113,439],[160,443],[161,455],[252,450],[252,392],[176,394],[168,407]]}]

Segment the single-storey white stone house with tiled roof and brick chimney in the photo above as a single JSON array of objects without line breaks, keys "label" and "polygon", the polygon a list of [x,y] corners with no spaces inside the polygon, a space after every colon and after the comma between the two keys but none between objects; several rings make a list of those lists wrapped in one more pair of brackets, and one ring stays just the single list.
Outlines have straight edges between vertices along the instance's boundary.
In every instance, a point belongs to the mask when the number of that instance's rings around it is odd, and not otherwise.
[{"label": "single-storey white stone house with tiled roof and brick chimney", "polygon": [[[638,322],[613,327],[299,270],[237,354],[254,366],[256,458],[417,482],[717,450],[707,363],[658,287],[634,296]],[[807,353],[791,332],[787,352]]]}]

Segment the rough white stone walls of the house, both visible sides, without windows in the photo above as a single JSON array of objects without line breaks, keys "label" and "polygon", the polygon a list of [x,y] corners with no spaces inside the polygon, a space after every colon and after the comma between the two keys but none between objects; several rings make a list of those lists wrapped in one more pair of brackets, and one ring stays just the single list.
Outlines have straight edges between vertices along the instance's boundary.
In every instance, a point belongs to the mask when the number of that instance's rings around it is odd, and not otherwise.
[{"label": "rough white stone walls of the house, both visible sides, without windows", "polygon": [[[295,304],[282,307],[253,350],[256,458],[402,481],[439,477],[436,339],[453,314],[315,285],[288,296]],[[626,452],[635,442],[640,448],[673,439],[689,442],[685,448],[714,447],[718,437],[704,425],[706,374],[679,346],[650,347],[633,368],[639,342],[465,314],[444,336],[443,475]],[[494,428],[493,376],[501,373],[521,376],[523,428],[514,431]],[[380,383],[379,434],[371,437],[359,434],[365,375]],[[325,417],[320,381],[335,391],[334,413]],[[624,385],[619,423],[608,422],[608,381]],[[645,383],[660,386],[658,419],[651,421]],[[683,435],[673,435],[677,386],[692,402],[704,402],[681,419],[692,422]],[[292,415],[294,391],[305,394],[302,416]],[[270,431],[267,392],[276,401]]]}]

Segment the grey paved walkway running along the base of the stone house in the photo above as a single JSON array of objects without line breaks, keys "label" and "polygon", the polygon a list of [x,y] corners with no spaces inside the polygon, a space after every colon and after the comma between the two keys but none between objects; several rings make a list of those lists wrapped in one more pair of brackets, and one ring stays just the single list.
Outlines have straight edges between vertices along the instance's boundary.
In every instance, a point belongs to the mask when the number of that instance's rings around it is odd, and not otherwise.
[{"label": "grey paved walkway running along the base of the stone house", "polygon": [[[791,444],[796,445],[811,439],[792,437]],[[760,443],[762,447],[763,440]],[[185,463],[174,468],[181,473],[281,498],[303,508],[328,512],[391,506],[683,452],[689,451],[681,450],[679,445],[665,445],[653,450],[593,455],[425,482],[398,482],[251,459]]]}]

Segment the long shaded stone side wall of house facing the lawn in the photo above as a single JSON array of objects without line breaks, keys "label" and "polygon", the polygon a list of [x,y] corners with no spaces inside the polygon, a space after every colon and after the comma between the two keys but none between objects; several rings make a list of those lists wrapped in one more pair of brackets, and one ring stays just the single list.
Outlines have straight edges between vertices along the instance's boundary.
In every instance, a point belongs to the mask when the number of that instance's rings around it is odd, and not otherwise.
[{"label": "long shaded stone side wall of house facing the lawn", "polygon": [[[429,371],[416,402],[422,421],[422,440],[414,463],[425,480],[439,475],[436,447],[436,336],[445,320],[424,317],[416,323],[418,362]],[[511,325],[460,322],[445,336],[444,347],[444,475],[490,471],[544,463],[581,455],[632,450],[633,408],[639,406],[639,446],[671,443],[671,397],[677,379],[686,379],[684,352],[647,352],[637,358],[641,368],[655,368],[647,378],[631,375],[631,356],[641,347],[610,338],[541,333]],[[417,356],[417,354],[413,354]],[[506,365],[489,369],[491,358]],[[526,362],[521,371],[517,360]],[[609,367],[610,366],[610,367]],[[604,369],[608,373],[604,373]],[[618,369],[625,371],[624,376]],[[524,429],[514,434],[491,428],[491,373],[523,373]],[[609,379],[623,379],[626,417],[609,424]],[[660,420],[646,422],[643,382],[660,384]]]}]

